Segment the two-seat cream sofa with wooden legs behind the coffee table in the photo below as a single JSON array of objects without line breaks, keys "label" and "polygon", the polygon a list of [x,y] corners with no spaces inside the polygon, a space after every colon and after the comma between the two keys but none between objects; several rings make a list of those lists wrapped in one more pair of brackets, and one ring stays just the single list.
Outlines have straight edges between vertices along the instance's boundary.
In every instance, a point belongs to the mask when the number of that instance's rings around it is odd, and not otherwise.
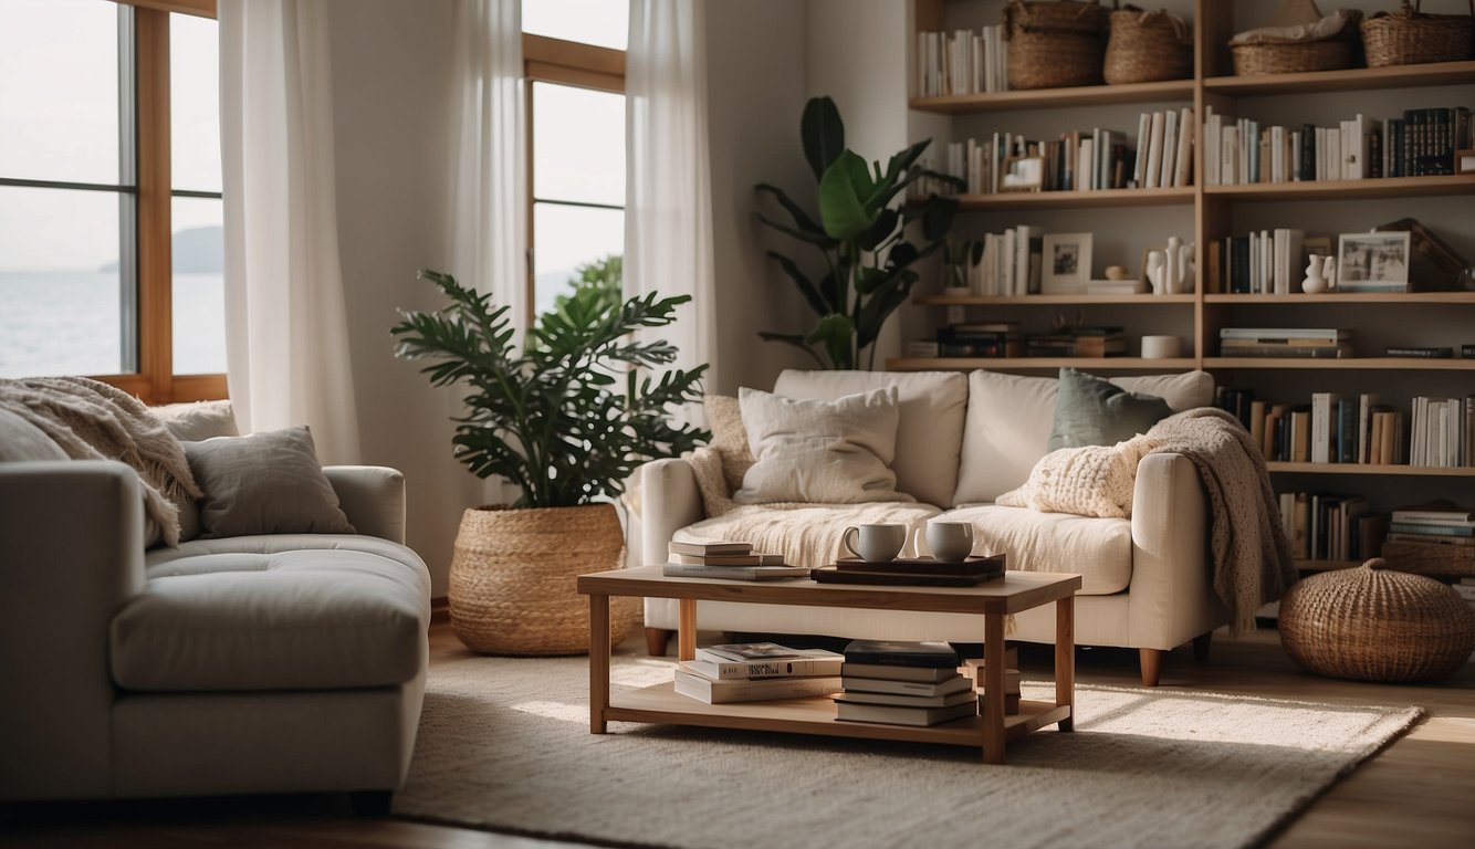
[{"label": "two-seat cream sofa with wooden legs behind the coffee table", "polygon": [[[1174,411],[1208,405],[1212,377],[1186,374],[1114,377],[1136,392],[1162,396]],[[900,401],[897,489],[914,504],[742,506],[707,517],[696,475],[686,460],[659,460],[642,470],[640,548],[658,562],[671,539],[754,538],[782,523],[782,538],[766,538],[791,559],[798,537],[856,522],[920,526],[945,516],[968,520],[975,550],[1004,551],[1012,569],[1077,572],[1084,576],[1075,607],[1075,640],[1083,646],[1140,650],[1142,679],[1158,682],[1162,654],[1187,641],[1202,656],[1208,634],[1224,623],[1214,595],[1207,539],[1207,500],[1199,473],[1183,455],[1148,454],[1137,469],[1130,519],[1084,517],[1004,507],[994,500],[1022,485],[1047,453],[1055,422],[1055,377],[993,371],[884,373],[783,371],[773,392],[789,398],[835,399],[895,385]],[[839,551],[836,550],[835,554]],[[804,563],[820,566],[822,563]],[[1015,618],[1010,638],[1053,643],[1049,606]],[[948,640],[981,643],[982,622],[971,615],[894,610],[853,612],[701,601],[702,629],[764,634],[823,634],[842,638]],[[664,651],[677,626],[677,603],[645,601],[648,643]]]}]

